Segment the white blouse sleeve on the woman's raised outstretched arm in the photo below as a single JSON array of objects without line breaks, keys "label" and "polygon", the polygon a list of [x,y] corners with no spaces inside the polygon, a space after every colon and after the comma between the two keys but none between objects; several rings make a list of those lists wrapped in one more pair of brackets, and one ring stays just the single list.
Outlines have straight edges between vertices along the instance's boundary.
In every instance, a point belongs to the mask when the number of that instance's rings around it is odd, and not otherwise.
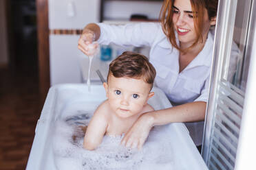
[{"label": "white blouse sleeve on the woman's raised outstretched arm", "polygon": [[126,25],[98,23],[98,25],[100,44],[109,45],[112,42],[122,47],[151,46],[160,29],[160,23],[129,23]]}]

